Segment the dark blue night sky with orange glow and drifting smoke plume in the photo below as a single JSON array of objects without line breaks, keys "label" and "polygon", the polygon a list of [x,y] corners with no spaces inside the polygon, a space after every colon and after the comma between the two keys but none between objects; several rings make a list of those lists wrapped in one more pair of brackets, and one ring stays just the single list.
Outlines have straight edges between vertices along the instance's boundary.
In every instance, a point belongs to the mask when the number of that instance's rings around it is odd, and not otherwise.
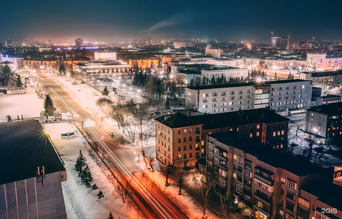
[{"label": "dark blue night sky with orange glow and drifting smoke plume", "polygon": [[[342,40],[333,1],[22,1],[2,8],[0,40]],[[151,34],[148,36],[148,29]]]}]

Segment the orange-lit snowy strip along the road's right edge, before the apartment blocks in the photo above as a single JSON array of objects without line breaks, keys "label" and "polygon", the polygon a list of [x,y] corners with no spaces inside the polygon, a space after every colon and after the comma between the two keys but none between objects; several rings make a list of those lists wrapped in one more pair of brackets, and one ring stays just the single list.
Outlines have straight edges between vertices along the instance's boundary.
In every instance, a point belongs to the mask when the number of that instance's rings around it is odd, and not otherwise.
[{"label": "orange-lit snowy strip along the road's right edge, before the apartment blocks", "polygon": [[[183,189],[182,195],[178,195],[179,187],[172,184],[172,180],[170,178],[170,185],[165,186],[166,177],[160,173],[160,167],[156,160],[154,161],[154,172],[152,172],[150,169],[146,167],[144,160],[142,158],[138,159],[138,157],[136,157],[134,159],[134,163],[137,167],[144,171],[146,175],[151,180],[153,180],[156,183],[156,185],[174,201],[174,203],[180,206],[180,208],[183,209],[183,211],[186,212],[190,218],[200,219],[202,217],[202,207],[193,199],[192,196],[188,195]],[[191,183],[190,181],[192,181],[193,178],[196,177],[195,175],[196,173],[190,173],[190,175],[188,176],[189,178],[191,178],[188,180],[189,183]],[[219,219],[210,210],[207,210],[206,216],[208,217],[208,219]]]}]

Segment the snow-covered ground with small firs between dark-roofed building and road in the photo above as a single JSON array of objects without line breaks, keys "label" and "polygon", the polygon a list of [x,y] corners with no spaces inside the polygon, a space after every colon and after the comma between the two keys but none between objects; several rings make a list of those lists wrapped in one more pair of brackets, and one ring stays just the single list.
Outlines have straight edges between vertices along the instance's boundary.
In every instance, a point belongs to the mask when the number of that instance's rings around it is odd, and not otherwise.
[{"label": "snow-covered ground with small firs between dark-roofed building and road", "polygon": [[[79,137],[61,138],[61,133],[74,131],[75,126],[58,123],[55,126],[53,124],[45,125],[45,129],[51,136],[65,163],[67,181],[62,182],[62,187],[68,218],[107,218],[109,211],[112,212],[115,218],[138,217],[133,207],[130,207],[127,203],[122,203],[122,200],[117,198],[114,186],[101,171],[101,168],[88,155],[87,149],[90,149],[90,146],[86,144],[86,147],[84,147],[81,134],[79,134]],[[98,186],[97,190],[87,189],[86,186],[82,185],[77,172],[74,170],[79,150],[82,150],[83,155],[87,158],[87,164],[93,177],[91,184],[96,184]],[[104,197],[99,200],[97,193],[100,190],[103,192]]]}]

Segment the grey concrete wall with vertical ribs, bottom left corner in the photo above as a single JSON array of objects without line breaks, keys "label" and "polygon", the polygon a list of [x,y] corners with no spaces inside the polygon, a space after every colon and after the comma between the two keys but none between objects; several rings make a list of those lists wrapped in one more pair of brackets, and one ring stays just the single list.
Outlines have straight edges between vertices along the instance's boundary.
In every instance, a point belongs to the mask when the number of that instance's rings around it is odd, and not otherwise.
[{"label": "grey concrete wall with vertical ribs, bottom left corner", "polygon": [[[38,214],[38,216],[37,216]],[[0,185],[0,218],[66,219],[60,172]]]}]

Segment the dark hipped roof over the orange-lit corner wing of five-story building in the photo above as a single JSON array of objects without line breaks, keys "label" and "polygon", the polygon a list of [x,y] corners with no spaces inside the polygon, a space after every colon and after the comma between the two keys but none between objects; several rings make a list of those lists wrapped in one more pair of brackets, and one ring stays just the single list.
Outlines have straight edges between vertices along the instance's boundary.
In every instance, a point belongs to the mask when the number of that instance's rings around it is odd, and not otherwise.
[{"label": "dark hipped roof over the orange-lit corner wing of five-story building", "polygon": [[[165,119],[166,117],[166,119]],[[166,125],[167,127],[173,128],[181,128],[181,127],[188,127],[188,126],[198,126],[203,125],[192,116],[186,116],[182,113],[175,113],[174,115],[166,115],[155,118],[154,120],[160,122],[161,124]]]}]

